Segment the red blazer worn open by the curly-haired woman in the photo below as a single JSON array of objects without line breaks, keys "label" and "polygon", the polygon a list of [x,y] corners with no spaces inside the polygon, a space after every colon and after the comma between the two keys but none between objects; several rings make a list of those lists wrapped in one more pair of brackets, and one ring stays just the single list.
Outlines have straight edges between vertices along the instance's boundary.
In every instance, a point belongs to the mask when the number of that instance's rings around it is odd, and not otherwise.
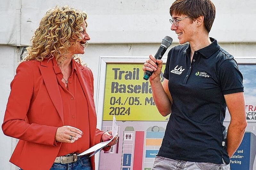
[{"label": "red blazer worn open by the curly-haired woman", "polygon": [[[25,170],[49,170],[62,144],[57,142],[54,145],[56,130],[64,125],[63,107],[54,72],[57,66],[48,60],[19,64],[11,82],[2,124],[5,135],[20,139],[10,162]],[[75,63],[78,79],[88,101],[91,147],[101,141],[104,132],[96,128],[92,71]],[[91,164],[94,170],[94,156],[91,157]]]}]

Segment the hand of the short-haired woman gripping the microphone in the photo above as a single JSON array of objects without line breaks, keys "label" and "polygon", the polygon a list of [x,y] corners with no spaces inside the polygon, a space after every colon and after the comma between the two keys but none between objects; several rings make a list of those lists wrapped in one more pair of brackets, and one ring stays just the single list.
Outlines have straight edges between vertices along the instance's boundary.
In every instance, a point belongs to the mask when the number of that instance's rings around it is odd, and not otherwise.
[{"label": "hand of the short-haired woman gripping the microphone", "polygon": [[149,80],[154,80],[156,78],[160,80],[162,64],[162,60],[156,60],[153,55],[149,55],[149,59],[143,64],[142,70],[144,72],[153,71],[152,75],[149,77]]}]

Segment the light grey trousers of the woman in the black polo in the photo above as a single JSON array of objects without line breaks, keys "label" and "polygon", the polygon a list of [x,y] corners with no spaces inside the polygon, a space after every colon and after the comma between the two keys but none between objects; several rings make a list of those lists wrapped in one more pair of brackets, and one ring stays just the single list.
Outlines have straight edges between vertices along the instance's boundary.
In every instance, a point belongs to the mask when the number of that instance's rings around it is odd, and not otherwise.
[{"label": "light grey trousers of the woman in the black polo", "polygon": [[151,170],[230,170],[230,165],[155,157]]}]

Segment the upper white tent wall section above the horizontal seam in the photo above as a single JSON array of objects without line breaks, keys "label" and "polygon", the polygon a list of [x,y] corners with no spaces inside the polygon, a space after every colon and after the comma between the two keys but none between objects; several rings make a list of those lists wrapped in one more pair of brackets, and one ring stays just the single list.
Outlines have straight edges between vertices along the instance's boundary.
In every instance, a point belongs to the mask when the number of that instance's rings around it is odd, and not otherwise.
[{"label": "upper white tent wall section above the horizontal seam", "polygon": [[[70,5],[88,13],[91,43],[152,43],[170,32],[169,7],[174,0],[10,0],[1,2],[0,44],[28,45],[45,12]],[[210,35],[219,42],[255,42],[256,1],[213,0],[216,19]],[[177,39],[174,39],[177,42]]]}]

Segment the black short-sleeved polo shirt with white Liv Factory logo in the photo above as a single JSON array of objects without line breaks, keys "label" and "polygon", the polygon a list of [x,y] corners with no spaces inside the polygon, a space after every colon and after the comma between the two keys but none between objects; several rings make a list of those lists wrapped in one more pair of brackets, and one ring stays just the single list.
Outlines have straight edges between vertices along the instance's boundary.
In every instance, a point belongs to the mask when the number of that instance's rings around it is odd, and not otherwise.
[{"label": "black short-sleeved polo shirt with white Liv Factory logo", "polygon": [[229,163],[226,151],[224,94],[243,92],[243,76],[233,56],[217,40],[194,52],[179,45],[168,53],[164,78],[169,80],[172,113],[158,155],[170,159]]}]

